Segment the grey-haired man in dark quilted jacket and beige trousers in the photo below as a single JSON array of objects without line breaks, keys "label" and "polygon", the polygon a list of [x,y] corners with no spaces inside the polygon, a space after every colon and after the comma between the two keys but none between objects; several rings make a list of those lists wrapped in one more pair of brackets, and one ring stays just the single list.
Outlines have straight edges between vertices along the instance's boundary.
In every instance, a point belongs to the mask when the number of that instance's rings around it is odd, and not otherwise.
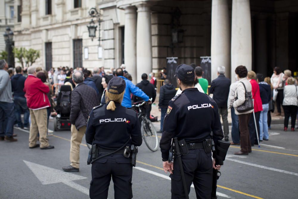
[{"label": "grey-haired man in dark quilted jacket and beige trousers", "polygon": [[99,100],[95,89],[84,83],[82,71],[76,71],[72,75],[75,88],[71,94],[70,122],[70,165],[62,167],[66,172],[78,172],[80,168],[80,144],[86,131],[86,124],[93,107],[98,106]]}]

